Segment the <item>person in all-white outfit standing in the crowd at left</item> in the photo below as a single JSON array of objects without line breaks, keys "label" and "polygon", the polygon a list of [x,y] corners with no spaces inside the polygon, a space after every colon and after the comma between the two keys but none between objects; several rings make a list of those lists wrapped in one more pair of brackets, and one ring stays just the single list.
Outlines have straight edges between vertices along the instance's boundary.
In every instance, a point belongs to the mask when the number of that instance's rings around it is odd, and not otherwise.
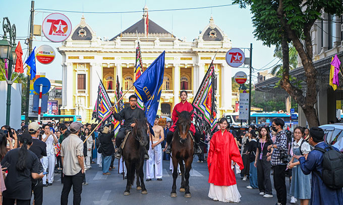
[{"label": "person in all-white outfit standing in the crowd at left", "polygon": [[[42,136],[42,141],[46,144],[46,157],[41,159],[44,172],[49,170],[48,175],[43,177],[43,186],[52,185],[53,173],[55,168],[55,147],[54,144],[58,143],[57,137],[52,132],[52,128],[48,125],[43,125],[44,134]],[[46,185],[46,177],[48,177],[48,184]]]}]

